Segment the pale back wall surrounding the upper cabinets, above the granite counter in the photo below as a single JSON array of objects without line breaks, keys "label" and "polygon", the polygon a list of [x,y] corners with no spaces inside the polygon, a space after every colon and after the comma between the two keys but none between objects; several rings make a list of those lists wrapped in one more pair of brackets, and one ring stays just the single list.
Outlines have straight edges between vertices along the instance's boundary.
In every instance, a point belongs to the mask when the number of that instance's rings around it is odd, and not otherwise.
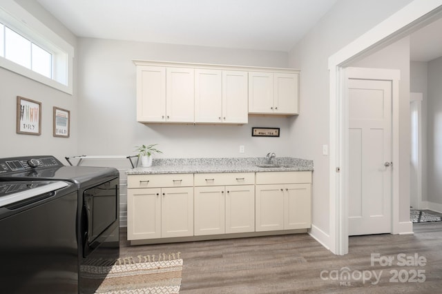
[{"label": "pale back wall surrounding the upper cabinets, above the granite counter", "polygon": [[[249,124],[140,124],[135,118],[133,59],[287,67],[287,53],[157,43],[79,39],[79,153],[133,155],[134,146],[159,144],[159,157],[295,156],[287,117],[249,117]],[[251,137],[251,127],[281,128],[279,138]],[[239,146],[245,153],[239,153]]]}]

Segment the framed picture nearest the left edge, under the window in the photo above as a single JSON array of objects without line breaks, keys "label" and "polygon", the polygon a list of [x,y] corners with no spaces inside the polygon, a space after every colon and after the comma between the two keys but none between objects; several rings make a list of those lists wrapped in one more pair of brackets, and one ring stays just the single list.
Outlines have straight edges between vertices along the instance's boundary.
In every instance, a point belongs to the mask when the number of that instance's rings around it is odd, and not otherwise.
[{"label": "framed picture nearest the left edge, under the window", "polygon": [[17,134],[41,135],[41,102],[17,96]]}]

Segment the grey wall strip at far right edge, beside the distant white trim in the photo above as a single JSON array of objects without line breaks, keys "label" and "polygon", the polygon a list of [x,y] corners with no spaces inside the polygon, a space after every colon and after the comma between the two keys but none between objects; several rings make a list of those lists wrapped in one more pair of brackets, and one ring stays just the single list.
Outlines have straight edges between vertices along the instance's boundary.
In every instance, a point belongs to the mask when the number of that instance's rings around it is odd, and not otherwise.
[{"label": "grey wall strip at far right edge, beside the distant white trim", "polygon": [[[427,201],[442,208],[442,57],[428,62]],[[437,205],[439,204],[439,205]]]}]

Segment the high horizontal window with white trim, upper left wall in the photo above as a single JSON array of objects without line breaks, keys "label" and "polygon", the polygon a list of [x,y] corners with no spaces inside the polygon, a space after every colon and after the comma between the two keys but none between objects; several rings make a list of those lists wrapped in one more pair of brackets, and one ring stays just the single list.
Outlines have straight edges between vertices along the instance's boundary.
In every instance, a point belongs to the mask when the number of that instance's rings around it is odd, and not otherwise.
[{"label": "high horizontal window with white trim, upper left wall", "polygon": [[0,3],[0,67],[73,94],[73,53],[14,0]]}]

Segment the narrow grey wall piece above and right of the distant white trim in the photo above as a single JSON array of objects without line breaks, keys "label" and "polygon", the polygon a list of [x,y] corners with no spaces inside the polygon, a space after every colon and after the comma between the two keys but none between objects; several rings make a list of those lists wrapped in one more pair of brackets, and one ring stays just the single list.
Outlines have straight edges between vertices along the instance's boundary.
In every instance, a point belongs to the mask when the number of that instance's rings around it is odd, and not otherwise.
[{"label": "narrow grey wall piece above and right of the distant white trim", "polygon": [[427,75],[428,63],[422,61],[410,61],[410,92],[419,92],[423,94],[422,100],[422,201],[428,200],[428,182],[427,182]]}]

